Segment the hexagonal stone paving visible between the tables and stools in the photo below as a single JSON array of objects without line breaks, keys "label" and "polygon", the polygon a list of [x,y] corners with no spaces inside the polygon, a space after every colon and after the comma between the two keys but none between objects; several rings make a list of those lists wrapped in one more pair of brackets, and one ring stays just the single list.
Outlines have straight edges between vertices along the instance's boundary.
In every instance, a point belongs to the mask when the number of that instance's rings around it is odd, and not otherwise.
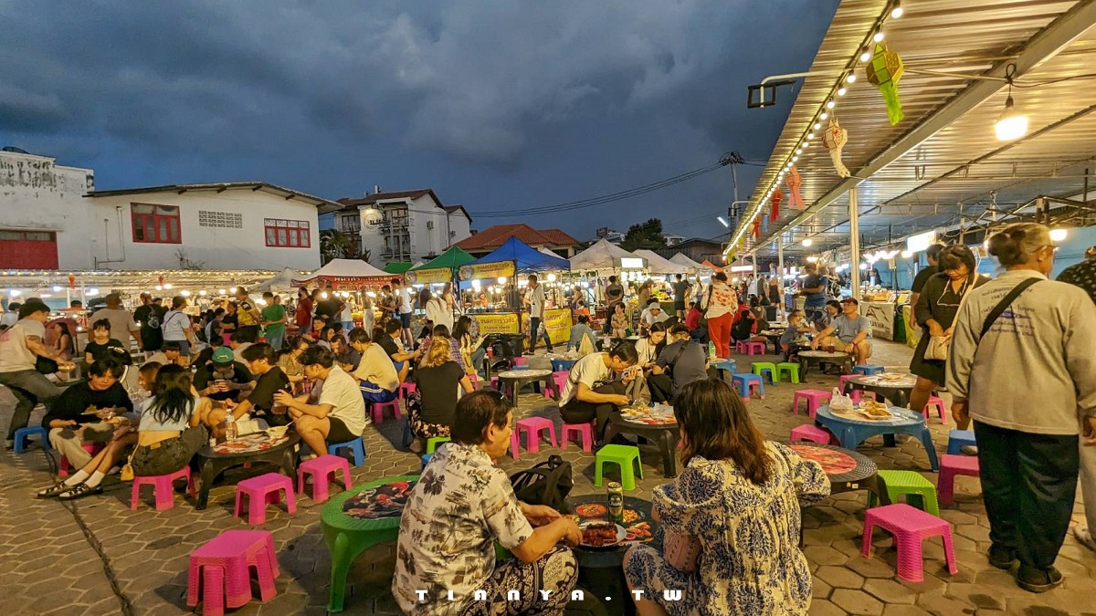
[{"label": "hexagonal stone paving visible between the tables and stools", "polygon": [[[904,346],[877,343],[877,363],[900,369],[909,362]],[[739,357],[740,365],[749,358]],[[831,388],[836,377],[812,373],[800,387]],[[806,415],[790,412],[794,386],[767,388],[766,400],[749,403],[762,431],[786,442],[789,430],[806,423]],[[7,392],[3,392],[7,396]],[[0,400],[0,425],[10,417],[10,397]],[[558,411],[534,395],[521,397],[520,417]],[[41,415],[35,414],[33,421]],[[948,426],[934,419],[931,426],[937,449],[947,442]],[[400,426],[388,421],[366,434],[368,458],[354,469],[355,481],[414,474],[419,458],[393,446]],[[917,441],[886,448],[876,437],[859,450],[880,468],[915,469],[935,482],[925,452]],[[545,459],[522,454],[520,461],[500,460],[512,472]],[[601,492],[593,487],[593,455],[573,445],[563,453],[575,469],[574,493]],[[646,479],[635,495],[650,498],[650,490],[665,481],[658,453],[643,449]],[[185,606],[187,555],[222,531],[247,527],[232,517],[233,489],[214,489],[209,507],[175,498],[175,506],[156,512],[147,503],[130,512],[129,484],[109,478],[106,493],[75,503],[39,501],[35,488],[52,481],[53,461],[39,449],[22,456],[0,454],[0,605],[5,614],[179,614]],[[229,476],[229,480],[240,476]],[[338,488],[334,488],[338,490]],[[956,504],[941,515],[954,526],[959,573],[948,575],[939,540],[925,543],[925,581],[912,584],[894,574],[895,551],[886,533],[877,532],[872,558],[860,557],[866,492],[840,494],[804,512],[804,551],[814,572],[811,614],[1052,614],[1096,613],[1096,555],[1071,536],[1065,540],[1058,568],[1065,574],[1062,588],[1042,595],[1019,590],[1005,572],[990,567],[987,523],[979,498],[977,479],[957,479]],[[298,500],[295,515],[270,507],[263,526],[274,534],[282,575],[277,596],[260,604],[253,601],[235,614],[322,614],[327,604],[330,560],[320,535],[319,511],[308,498]],[[1081,518],[1081,505],[1075,520]],[[346,614],[398,614],[388,586],[393,571],[391,546],[375,548],[359,557],[350,572]]]}]

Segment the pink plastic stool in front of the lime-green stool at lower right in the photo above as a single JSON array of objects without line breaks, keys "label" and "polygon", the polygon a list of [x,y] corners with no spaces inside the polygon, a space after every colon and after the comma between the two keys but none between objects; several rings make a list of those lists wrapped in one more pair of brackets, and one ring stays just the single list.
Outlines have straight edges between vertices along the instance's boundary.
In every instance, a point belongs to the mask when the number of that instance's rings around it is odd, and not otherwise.
[{"label": "pink plastic stool in front of the lime-green stool at lower right", "polygon": [[955,575],[959,572],[951,546],[951,525],[946,521],[905,503],[869,509],[864,512],[864,540],[860,543],[860,556],[864,558],[871,557],[871,532],[876,526],[894,535],[894,543],[898,545],[898,577],[906,582],[921,582],[925,579],[921,543],[928,537],[939,536],[944,540],[948,573]]}]

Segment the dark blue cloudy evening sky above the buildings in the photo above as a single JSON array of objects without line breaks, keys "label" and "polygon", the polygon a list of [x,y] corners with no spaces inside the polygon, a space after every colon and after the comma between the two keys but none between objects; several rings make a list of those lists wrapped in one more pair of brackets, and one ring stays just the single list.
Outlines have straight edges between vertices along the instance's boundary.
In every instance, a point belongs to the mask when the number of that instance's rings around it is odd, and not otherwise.
[{"label": "dark blue cloudy evening sky above the buildings", "polygon": [[[0,145],[99,189],[265,180],[328,198],[433,187],[477,212],[764,161],[837,0],[0,0]],[[742,167],[742,198],[758,167]],[[730,169],[521,218],[579,239],[661,216],[722,232]],[[516,221],[477,217],[473,226]]]}]

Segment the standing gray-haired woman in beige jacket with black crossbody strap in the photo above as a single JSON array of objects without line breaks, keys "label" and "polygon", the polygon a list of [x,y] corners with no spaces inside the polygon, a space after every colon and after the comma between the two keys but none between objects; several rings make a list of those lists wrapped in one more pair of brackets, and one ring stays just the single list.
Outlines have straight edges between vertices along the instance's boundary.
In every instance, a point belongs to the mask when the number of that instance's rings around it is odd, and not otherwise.
[{"label": "standing gray-haired woman in beige jacket with black crossbody strap", "polygon": [[[969,292],[955,324],[946,381],[952,414],[974,420],[990,563],[1044,592],[1070,526],[1078,436],[1096,429],[1096,306],[1047,276],[1050,230],[1009,225],[989,241],[1005,269]],[[968,411],[969,409],[969,411]]]}]

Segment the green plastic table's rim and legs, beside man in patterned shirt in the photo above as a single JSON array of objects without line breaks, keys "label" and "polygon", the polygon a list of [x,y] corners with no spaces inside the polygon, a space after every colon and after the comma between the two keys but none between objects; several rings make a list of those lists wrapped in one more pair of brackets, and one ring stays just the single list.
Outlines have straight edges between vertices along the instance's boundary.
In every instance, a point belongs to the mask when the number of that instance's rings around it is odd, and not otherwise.
[{"label": "green plastic table's rim and legs, beside man in patterned shirt", "polygon": [[396,540],[400,534],[400,516],[362,520],[346,515],[343,503],[351,497],[391,483],[392,481],[418,481],[418,475],[386,477],[358,486],[334,497],[323,505],[320,524],[323,527],[323,543],[331,552],[331,592],[328,594],[328,612],[342,612],[346,598],[346,573],[354,559],[373,546]]}]

